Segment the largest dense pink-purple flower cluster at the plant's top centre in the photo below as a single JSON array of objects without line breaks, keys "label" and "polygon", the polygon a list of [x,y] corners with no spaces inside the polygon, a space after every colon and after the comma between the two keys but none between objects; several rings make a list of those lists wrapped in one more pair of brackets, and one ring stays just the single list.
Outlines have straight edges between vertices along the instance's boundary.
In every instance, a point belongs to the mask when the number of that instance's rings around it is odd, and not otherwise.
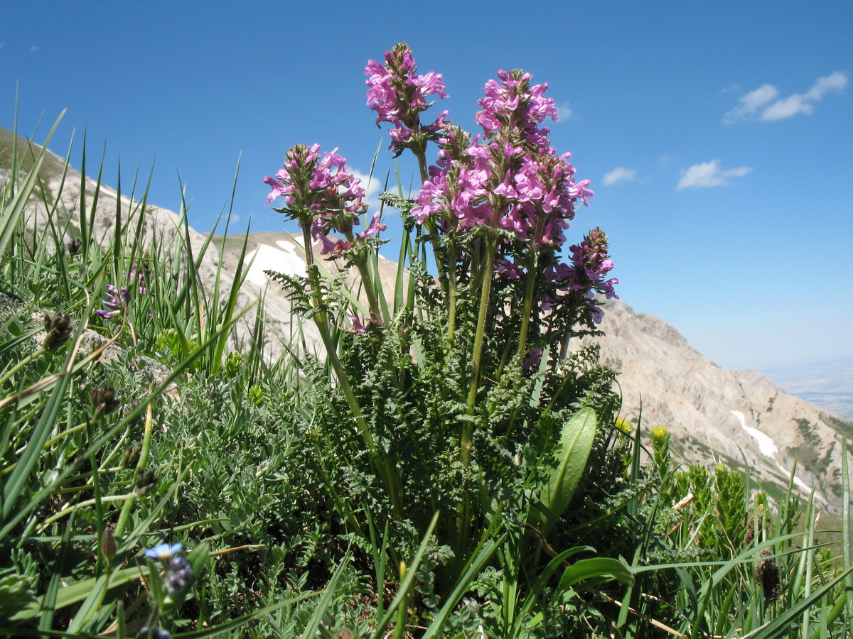
[{"label": "largest dense pink-purple flower cluster at the plant's top centre", "polygon": [[477,114],[484,133],[471,137],[445,125],[436,166],[415,198],[411,215],[431,219],[445,232],[478,227],[512,233],[533,250],[559,249],[578,199],[593,196],[589,181],[576,182],[570,153],[558,156],[545,118],[557,120],[547,84],[531,74],[499,71],[485,85]]}]

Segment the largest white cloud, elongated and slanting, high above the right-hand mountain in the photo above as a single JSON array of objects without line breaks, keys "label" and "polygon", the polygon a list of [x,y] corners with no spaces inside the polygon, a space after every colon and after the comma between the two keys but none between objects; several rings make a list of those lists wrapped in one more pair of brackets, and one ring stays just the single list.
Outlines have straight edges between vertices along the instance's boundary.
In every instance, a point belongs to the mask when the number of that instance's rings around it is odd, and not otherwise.
[{"label": "largest white cloud, elongated and slanting, high above the right-hand mountain", "polygon": [[836,71],[823,78],[817,78],[805,93],[794,93],[779,98],[779,89],[772,84],[763,84],[746,95],[741,95],[738,105],[722,117],[725,124],[740,120],[762,119],[767,121],[792,118],[798,113],[811,115],[815,111],[814,102],[821,101],[830,91],[843,91],[850,78],[847,73]]}]

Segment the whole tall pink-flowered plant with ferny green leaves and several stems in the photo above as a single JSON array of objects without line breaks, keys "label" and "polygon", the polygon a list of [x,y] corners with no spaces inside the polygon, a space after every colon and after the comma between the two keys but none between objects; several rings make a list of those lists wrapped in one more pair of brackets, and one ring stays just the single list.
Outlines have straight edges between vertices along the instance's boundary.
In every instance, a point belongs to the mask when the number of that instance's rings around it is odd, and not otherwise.
[{"label": "whole tall pink-flowered plant with ferny green leaves and several stems", "polygon": [[[299,222],[308,262],[305,278],[276,277],[316,322],[334,372],[325,406],[312,407],[322,424],[306,463],[364,538],[387,518],[405,549],[440,511],[438,562],[458,568],[504,522],[541,538],[566,510],[596,413],[612,423],[617,406],[612,372],[589,349],[571,354],[569,341],[597,332],[595,294],[615,296],[618,280],[606,279],[613,263],[601,229],[566,239],[593,192],[575,179],[571,154],[550,146],[543,122],[557,111],[547,84],[499,71],[472,135],[446,111],[421,122],[428,98],[447,95],[440,74],[417,74],[405,43],[365,73],[377,125],[392,124],[392,152],[414,153],[420,171],[410,199],[382,196],[402,211],[409,284],[401,273],[393,294],[381,290],[373,265],[386,226],[338,149],[297,144],[264,179],[267,204],[283,198],[276,210]],[[361,217],[367,228],[356,233]],[[322,276],[312,240],[321,256],[357,268],[363,296]]]}]

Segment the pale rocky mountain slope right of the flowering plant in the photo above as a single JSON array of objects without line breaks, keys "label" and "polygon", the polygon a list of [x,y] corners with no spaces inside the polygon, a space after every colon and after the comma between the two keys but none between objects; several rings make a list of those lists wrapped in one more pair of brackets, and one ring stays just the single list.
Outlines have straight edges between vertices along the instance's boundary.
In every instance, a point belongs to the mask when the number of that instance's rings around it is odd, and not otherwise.
[{"label": "pale rocky mountain slope right of the flowering plant", "polygon": [[794,484],[829,511],[841,510],[841,440],[853,422],[787,394],[757,371],[727,371],[672,326],[606,302],[601,357],[620,372],[623,412],[670,429],[685,461],[750,467],[768,492]]}]

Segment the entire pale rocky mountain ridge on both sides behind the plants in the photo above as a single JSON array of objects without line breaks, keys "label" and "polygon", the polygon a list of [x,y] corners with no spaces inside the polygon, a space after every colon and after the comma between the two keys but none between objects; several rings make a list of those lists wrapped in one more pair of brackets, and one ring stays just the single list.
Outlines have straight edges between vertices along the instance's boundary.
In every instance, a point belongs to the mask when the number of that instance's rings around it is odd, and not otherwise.
[{"label": "entire pale rocky mountain ridge on both sides behind the plants", "polygon": [[[0,152],[11,146],[11,135],[0,129]],[[73,234],[79,226],[81,190],[86,190],[91,202],[95,182],[84,180],[70,169],[63,181],[63,165],[61,158],[49,154],[42,168],[40,188],[47,195],[61,191],[62,205],[54,215],[61,218],[58,226]],[[0,184],[8,176],[8,163],[0,164]],[[118,201],[123,220],[144,217],[144,241],[157,237],[160,245],[168,245],[177,233],[184,233],[183,222],[171,211],[151,206],[143,211],[130,199]],[[104,242],[112,237],[116,202],[116,193],[102,186],[94,219],[96,238]],[[32,224],[39,227],[44,225],[48,211],[44,204],[34,202],[28,214]],[[189,228],[189,238],[197,254],[205,237]],[[287,233],[217,237],[201,262],[203,285],[210,287],[216,281],[220,258],[221,283],[226,290],[233,285],[244,239],[248,271],[239,303],[246,307],[263,299],[267,340],[264,351],[274,360],[284,352],[297,325],[292,321],[286,296],[278,285],[270,285],[264,270],[302,273],[305,252],[301,238]],[[397,266],[382,258],[380,271],[384,279],[390,280],[397,273]],[[258,308],[253,306],[237,327],[235,345],[252,330]],[[646,431],[656,424],[668,427],[673,435],[673,451],[686,462],[722,461],[734,468],[750,467],[771,495],[784,491],[796,469],[794,483],[798,490],[808,495],[814,489],[821,507],[840,513],[841,440],[853,435],[853,422],[786,394],[761,373],[727,371],[714,365],[691,348],[672,326],[653,315],[637,314],[624,302],[606,302],[601,328],[606,331],[606,337],[599,339],[602,360],[620,372],[618,383],[625,417],[640,422]],[[305,325],[305,340],[319,343],[310,323]]]}]

